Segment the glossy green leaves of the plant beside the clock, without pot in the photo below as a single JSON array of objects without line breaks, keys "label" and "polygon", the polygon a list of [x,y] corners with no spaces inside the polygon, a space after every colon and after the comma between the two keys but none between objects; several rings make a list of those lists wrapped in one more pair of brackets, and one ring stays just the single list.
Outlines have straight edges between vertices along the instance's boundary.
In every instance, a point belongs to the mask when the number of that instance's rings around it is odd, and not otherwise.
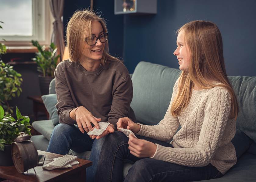
[{"label": "glossy green leaves of the plant beside the clock, without pot", "polygon": [[21,116],[20,110],[16,106],[16,116],[15,120],[10,114],[4,116],[4,110],[0,106],[0,150],[4,151],[5,145],[10,145],[15,142],[15,139],[21,132],[25,132],[29,135],[31,126],[29,123],[28,116]]}]

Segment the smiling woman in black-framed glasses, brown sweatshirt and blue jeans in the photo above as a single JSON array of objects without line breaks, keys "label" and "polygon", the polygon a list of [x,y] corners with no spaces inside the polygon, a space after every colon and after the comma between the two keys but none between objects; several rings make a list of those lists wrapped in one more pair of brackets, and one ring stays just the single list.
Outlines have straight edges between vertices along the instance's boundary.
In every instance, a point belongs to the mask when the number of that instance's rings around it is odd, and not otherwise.
[{"label": "smiling woman in black-framed glasses, brown sweatshirt and blue jeans", "polygon": [[[130,108],[133,87],[123,62],[108,54],[108,31],[104,19],[91,10],[76,11],[67,26],[69,59],[55,70],[59,123],[55,126],[48,152],[68,154],[92,151],[93,166],[87,168],[87,181],[94,180],[93,169],[104,142],[103,136],[117,130],[122,117],[136,121]],[[99,136],[87,135],[98,122],[110,125]],[[95,140],[101,138],[101,140]],[[95,155],[94,155],[95,154]]]}]

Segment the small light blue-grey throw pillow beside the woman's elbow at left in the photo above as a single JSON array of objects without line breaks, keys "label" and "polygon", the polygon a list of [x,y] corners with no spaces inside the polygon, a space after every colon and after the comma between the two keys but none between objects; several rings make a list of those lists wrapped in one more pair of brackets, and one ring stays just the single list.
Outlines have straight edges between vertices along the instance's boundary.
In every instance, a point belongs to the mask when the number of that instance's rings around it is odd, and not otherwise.
[{"label": "small light blue-grey throw pillow beside the woman's elbow at left", "polygon": [[44,106],[46,107],[49,113],[50,119],[52,119],[52,124],[54,125],[59,124],[59,116],[57,114],[57,108],[55,106],[57,104],[56,93],[43,95],[42,99],[44,102]]}]

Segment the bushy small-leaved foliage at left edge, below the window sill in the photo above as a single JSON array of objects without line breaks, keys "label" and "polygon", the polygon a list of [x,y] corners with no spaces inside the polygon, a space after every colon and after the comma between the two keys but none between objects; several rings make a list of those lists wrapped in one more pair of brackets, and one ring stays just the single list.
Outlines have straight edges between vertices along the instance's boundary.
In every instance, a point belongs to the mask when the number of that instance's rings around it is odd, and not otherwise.
[{"label": "bushy small-leaved foliage at left edge, below the window sill", "polygon": [[0,60],[0,106],[5,110],[5,113],[13,113],[12,107],[9,106],[8,100],[13,97],[20,96],[22,89],[20,87],[23,81],[20,73],[17,73],[13,66],[5,64]]}]

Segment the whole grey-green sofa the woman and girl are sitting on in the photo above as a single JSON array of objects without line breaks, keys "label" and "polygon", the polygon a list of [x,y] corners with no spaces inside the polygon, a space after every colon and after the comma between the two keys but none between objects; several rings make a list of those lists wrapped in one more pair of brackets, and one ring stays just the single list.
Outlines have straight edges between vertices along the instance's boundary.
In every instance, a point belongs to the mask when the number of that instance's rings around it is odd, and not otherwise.
[{"label": "whole grey-green sofa the woman and girl are sitting on", "polygon": [[[150,62],[139,62],[133,74],[133,108],[139,123],[156,125],[165,115],[171,100],[173,86],[180,70]],[[229,76],[237,93],[240,113],[236,121],[236,135],[232,140],[236,148],[237,163],[223,177],[210,181],[256,181],[256,77]],[[49,95],[43,96],[51,120],[35,121],[32,126],[42,135],[32,136],[38,150],[47,150],[52,130],[58,124],[54,80]],[[180,128],[179,128],[180,129]],[[179,130],[178,129],[178,130]],[[91,151],[69,154],[89,159]],[[124,162],[123,177],[132,163]]]}]

